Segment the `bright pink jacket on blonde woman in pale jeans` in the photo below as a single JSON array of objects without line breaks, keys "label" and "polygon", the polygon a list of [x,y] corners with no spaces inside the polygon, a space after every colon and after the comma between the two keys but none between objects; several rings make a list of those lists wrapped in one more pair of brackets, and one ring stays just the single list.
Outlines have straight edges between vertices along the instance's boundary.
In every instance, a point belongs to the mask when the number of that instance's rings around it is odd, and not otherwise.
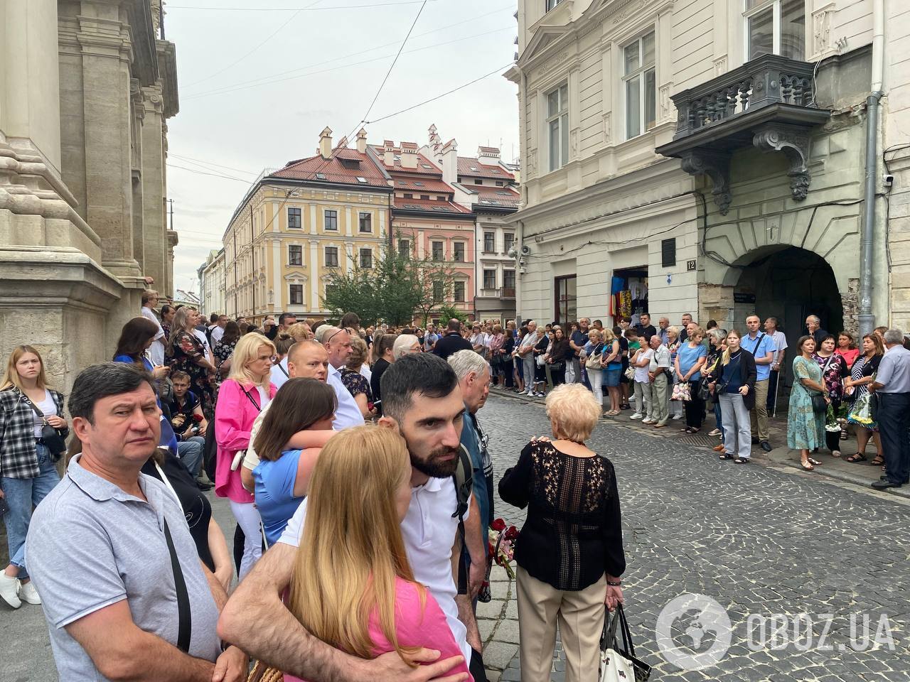
[{"label": "bright pink jacket on blonde woman in pale jeans", "polygon": [[[268,385],[269,399],[275,397],[276,391],[274,384]],[[249,432],[259,416],[261,399],[256,386],[241,387],[234,379],[227,379],[218,389],[215,404],[215,440],[218,446],[215,494],[219,497],[240,503],[253,501],[253,496],[240,482],[240,467],[231,471],[230,465],[238,450],[246,450],[249,446]]]}]

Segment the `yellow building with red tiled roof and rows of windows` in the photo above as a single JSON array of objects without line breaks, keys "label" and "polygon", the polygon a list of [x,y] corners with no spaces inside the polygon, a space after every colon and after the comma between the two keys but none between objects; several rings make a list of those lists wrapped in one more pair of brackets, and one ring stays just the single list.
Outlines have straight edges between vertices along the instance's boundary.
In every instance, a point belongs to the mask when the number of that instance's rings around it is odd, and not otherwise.
[{"label": "yellow building with red tiled roof and rows of windows", "polygon": [[327,133],[319,155],[263,174],[235,211],[223,237],[227,316],[256,324],[282,312],[328,316],[330,270],[379,261],[390,178],[366,151],[365,133],[363,151],[332,149]]}]

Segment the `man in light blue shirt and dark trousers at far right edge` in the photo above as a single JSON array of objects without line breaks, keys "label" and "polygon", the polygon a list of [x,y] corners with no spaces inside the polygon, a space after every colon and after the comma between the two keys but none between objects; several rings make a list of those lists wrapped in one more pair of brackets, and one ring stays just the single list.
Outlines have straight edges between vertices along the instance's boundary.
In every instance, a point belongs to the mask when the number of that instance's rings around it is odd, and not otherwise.
[{"label": "man in light blue shirt and dark trousers at far right edge", "polygon": [[910,483],[910,350],[900,329],[888,329],[883,336],[887,350],[869,386],[878,399],[875,421],[885,451],[885,476],[872,484],[877,490]]}]

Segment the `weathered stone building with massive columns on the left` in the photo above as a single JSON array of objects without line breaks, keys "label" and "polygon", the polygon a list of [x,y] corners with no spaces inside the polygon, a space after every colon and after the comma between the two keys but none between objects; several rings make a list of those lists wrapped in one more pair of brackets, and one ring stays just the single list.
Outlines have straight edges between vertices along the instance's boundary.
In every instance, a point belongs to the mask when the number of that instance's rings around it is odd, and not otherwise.
[{"label": "weathered stone building with massive columns on the left", "polygon": [[143,278],[173,291],[159,0],[0,0],[0,353],[32,344],[56,386],[108,359]]}]

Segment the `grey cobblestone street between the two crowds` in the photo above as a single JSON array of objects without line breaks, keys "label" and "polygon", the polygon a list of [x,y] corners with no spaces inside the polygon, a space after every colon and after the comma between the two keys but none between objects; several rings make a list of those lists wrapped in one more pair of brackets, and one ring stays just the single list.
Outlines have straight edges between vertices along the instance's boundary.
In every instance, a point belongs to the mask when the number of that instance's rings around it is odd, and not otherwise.
[{"label": "grey cobblestone street between the two crowds", "polygon": [[[497,478],[531,436],[550,430],[542,401],[495,395],[480,424]],[[621,426],[598,426],[590,445],[616,468],[626,608],[652,679],[910,680],[906,500],[794,469],[720,462],[704,448]],[[214,507],[231,537],[227,504]],[[523,520],[501,500],[496,514]],[[662,609],[686,594],[712,597],[731,621],[729,650],[702,670],[673,666],[655,635]],[[723,623],[682,615],[670,631],[675,660],[713,660],[706,657],[723,643]],[[879,641],[869,641],[876,632]],[[57,679],[40,607],[0,606],[0,661],[2,682]],[[503,680],[520,678],[516,665]],[[554,667],[560,680],[560,662]]]}]

